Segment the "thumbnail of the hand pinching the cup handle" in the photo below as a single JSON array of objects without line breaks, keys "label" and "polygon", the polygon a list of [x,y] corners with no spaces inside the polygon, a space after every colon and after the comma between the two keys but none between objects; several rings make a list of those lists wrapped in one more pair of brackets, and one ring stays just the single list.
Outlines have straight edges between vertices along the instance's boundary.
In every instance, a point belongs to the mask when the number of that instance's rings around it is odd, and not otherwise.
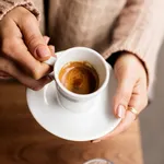
[{"label": "thumbnail of the hand pinching the cup handle", "polygon": [[36,49],[36,55],[38,58],[45,58],[50,56],[50,50],[46,46],[38,46]]}]

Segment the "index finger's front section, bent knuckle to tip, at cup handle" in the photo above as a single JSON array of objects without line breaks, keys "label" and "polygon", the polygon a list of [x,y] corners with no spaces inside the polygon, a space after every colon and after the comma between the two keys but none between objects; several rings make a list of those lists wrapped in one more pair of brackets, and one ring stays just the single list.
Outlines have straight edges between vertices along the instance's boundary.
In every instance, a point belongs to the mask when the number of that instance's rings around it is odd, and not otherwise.
[{"label": "index finger's front section, bent knuckle to tip, at cup handle", "polygon": [[48,65],[39,62],[30,54],[22,39],[5,38],[2,47],[2,52],[8,58],[16,61],[20,65],[20,69],[26,71],[36,80],[51,71],[51,68]]}]

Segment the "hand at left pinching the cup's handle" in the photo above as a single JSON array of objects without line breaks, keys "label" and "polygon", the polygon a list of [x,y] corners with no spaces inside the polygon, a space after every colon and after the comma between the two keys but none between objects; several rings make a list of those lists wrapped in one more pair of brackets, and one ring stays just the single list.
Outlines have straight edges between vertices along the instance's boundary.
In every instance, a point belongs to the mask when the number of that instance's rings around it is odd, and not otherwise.
[{"label": "hand at left pinching the cup's handle", "polygon": [[13,77],[32,90],[39,90],[51,79],[51,68],[42,62],[54,55],[47,46],[38,21],[28,10],[17,7],[0,21],[0,78]]}]

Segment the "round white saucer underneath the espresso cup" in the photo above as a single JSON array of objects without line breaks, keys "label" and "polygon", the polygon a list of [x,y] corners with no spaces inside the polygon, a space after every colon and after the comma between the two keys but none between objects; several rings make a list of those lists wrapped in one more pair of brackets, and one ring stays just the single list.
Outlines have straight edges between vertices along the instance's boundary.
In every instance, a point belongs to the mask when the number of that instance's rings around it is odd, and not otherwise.
[{"label": "round white saucer underneath the espresso cup", "polygon": [[87,113],[62,108],[57,102],[56,84],[51,82],[40,91],[27,89],[26,97],[32,115],[47,131],[66,140],[89,141],[107,134],[120,122],[112,109],[116,79],[110,67],[109,71],[106,90],[96,97]]}]

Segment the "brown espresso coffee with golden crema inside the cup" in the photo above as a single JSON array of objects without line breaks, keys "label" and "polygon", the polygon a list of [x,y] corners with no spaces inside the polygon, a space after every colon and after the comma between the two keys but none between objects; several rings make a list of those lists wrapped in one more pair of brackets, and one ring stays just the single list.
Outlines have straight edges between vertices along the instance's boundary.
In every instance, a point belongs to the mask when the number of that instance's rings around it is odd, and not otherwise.
[{"label": "brown espresso coffee with golden crema inside the cup", "polygon": [[99,85],[96,70],[86,61],[66,63],[59,72],[59,80],[66,89],[78,94],[93,93]]}]

